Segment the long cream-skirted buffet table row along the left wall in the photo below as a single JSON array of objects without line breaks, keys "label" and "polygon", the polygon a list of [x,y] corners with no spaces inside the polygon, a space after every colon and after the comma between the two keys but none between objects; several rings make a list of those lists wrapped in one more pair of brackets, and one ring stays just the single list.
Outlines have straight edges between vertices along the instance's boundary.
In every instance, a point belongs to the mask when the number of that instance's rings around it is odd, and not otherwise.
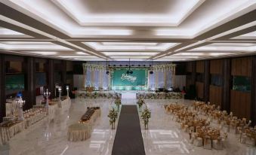
[{"label": "long cream-skirted buffet table row along the left wall", "polygon": [[61,108],[61,111],[66,111],[70,105],[71,100],[66,98],[61,102],[49,102],[48,115],[45,105],[34,105],[32,109],[23,112],[25,120],[17,121],[17,117],[10,117],[10,115],[4,117],[5,122],[0,123],[0,145],[6,144],[14,135],[43,120],[45,117],[53,119],[58,108]]}]

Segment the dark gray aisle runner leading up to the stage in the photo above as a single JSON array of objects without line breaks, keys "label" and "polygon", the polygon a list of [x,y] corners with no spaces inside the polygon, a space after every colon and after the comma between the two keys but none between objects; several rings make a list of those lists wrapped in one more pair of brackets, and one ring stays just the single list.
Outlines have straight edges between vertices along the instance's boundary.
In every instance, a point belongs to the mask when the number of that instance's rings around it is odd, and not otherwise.
[{"label": "dark gray aisle runner leading up to the stage", "polygon": [[144,155],[136,105],[122,105],[112,155]]}]

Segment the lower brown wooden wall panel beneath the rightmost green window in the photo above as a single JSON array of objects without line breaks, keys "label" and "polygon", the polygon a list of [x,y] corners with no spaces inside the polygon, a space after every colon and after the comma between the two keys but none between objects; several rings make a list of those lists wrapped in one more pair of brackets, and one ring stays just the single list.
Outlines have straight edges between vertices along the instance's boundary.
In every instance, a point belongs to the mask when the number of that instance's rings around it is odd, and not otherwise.
[{"label": "lower brown wooden wall panel beneath the rightmost green window", "polygon": [[230,111],[239,118],[251,119],[251,93],[230,91]]}]

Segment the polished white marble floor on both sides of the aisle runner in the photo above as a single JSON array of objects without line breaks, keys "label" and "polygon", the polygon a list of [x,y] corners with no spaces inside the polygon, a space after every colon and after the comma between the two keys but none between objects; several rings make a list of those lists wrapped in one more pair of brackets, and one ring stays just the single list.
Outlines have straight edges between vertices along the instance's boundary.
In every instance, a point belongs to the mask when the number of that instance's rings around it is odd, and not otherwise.
[{"label": "polished white marble floor on both sides of the aisle runner", "polygon": [[[125,99],[125,104],[136,100]],[[188,134],[180,131],[171,116],[164,113],[163,105],[170,102],[191,104],[189,101],[167,99],[146,100],[152,111],[150,129],[144,130],[140,121],[143,143],[147,155],[169,154],[207,154],[207,155],[255,155],[255,147],[239,144],[238,136],[230,134],[224,150],[205,150],[188,142]],[[54,120],[42,120],[25,132],[11,139],[9,144],[0,148],[0,154],[10,155],[109,155],[111,154],[116,130],[110,129],[106,117],[109,104],[113,99],[72,99],[69,111],[58,110]],[[66,140],[67,126],[76,123],[85,113],[88,105],[100,105],[101,117],[94,124],[91,138],[87,141],[69,142]],[[3,151],[5,150],[5,151]],[[5,153],[4,153],[5,152]]]}]

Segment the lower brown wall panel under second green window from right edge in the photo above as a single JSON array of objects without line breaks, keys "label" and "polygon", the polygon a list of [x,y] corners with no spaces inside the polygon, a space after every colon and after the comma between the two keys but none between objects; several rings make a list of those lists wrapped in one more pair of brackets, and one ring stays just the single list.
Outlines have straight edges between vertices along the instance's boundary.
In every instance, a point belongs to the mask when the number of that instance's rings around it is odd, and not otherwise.
[{"label": "lower brown wall panel under second green window from right edge", "polygon": [[220,106],[221,107],[221,103],[222,103],[222,87],[217,87],[217,86],[213,86],[210,85],[210,94],[209,94],[209,102],[211,102],[211,104],[214,104],[216,106]]}]

